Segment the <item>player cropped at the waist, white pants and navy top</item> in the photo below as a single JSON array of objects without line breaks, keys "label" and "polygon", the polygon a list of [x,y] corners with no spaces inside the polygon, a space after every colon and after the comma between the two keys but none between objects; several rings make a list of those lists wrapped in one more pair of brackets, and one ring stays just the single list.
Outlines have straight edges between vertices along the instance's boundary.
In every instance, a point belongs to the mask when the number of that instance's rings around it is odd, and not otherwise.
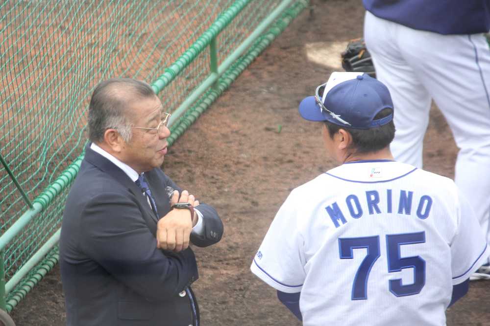
[{"label": "player cropped at the waist, white pants and navy top", "polygon": [[[364,38],[396,108],[394,157],[422,168],[434,100],[460,148],[455,182],[490,241],[490,0],[363,0]],[[490,279],[482,266],[473,279]]]}]

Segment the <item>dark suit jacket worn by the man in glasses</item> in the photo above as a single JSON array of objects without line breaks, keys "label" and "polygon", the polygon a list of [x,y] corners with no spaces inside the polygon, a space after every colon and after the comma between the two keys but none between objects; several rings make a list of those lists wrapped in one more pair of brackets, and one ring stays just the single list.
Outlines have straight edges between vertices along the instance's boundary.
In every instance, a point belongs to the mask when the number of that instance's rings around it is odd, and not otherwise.
[{"label": "dark suit jacket worn by the man in glasses", "polygon": [[[170,211],[169,188],[181,191],[160,169],[145,173],[160,216]],[[221,239],[216,211],[201,203],[200,247]],[[69,326],[188,326],[187,295],[197,280],[192,249],[156,247],[157,216],[140,188],[120,168],[86,147],[67,198],[60,237],[60,265]],[[182,294],[182,293],[181,293]],[[198,311],[197,311],[198,313]]]}]

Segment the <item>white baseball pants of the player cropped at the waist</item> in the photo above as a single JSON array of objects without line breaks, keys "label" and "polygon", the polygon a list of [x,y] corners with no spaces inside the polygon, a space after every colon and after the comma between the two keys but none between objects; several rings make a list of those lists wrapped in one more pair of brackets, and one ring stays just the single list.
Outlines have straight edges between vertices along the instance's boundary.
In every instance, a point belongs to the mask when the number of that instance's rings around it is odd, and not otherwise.
[{"label": "white baseball pants of the player cropped at the waist", "polygon": [[366,12],[364,38],[376,77],[392,95],[394,157],[422,167],[434,100],[460,149],[455,182],[490,242],[490,48],[485,36],[415,30]]}]

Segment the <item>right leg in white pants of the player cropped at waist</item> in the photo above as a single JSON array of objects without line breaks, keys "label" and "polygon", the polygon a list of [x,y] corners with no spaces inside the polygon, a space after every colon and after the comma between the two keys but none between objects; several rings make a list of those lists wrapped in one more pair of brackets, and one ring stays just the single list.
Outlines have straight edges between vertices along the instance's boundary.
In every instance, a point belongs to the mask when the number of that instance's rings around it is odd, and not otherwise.
[{"label": "right leg in white pants of the player cropped at waist", "polygon": [[[432,46],[424,60],[412,64],[422,76],[460,148],[455,181],[473,206],[490,242],[490,49],[483,34],[424,33]],[[440,51],[438,49],[443,49]]]}]

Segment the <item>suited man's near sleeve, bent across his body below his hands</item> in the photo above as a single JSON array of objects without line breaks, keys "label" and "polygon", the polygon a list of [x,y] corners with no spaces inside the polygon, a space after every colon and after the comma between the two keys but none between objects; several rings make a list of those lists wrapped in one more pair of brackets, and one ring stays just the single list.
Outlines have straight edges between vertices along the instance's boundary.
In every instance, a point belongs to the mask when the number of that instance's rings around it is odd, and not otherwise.
[{"label": "suited man's near sleeve, bent across his body below his hands", "polygon": [[89,257],[149,301],[171,298],[198,278],[192,250],[158,249],[137,205],[121,194],[100,194],[85,205],[80,237]]}]

